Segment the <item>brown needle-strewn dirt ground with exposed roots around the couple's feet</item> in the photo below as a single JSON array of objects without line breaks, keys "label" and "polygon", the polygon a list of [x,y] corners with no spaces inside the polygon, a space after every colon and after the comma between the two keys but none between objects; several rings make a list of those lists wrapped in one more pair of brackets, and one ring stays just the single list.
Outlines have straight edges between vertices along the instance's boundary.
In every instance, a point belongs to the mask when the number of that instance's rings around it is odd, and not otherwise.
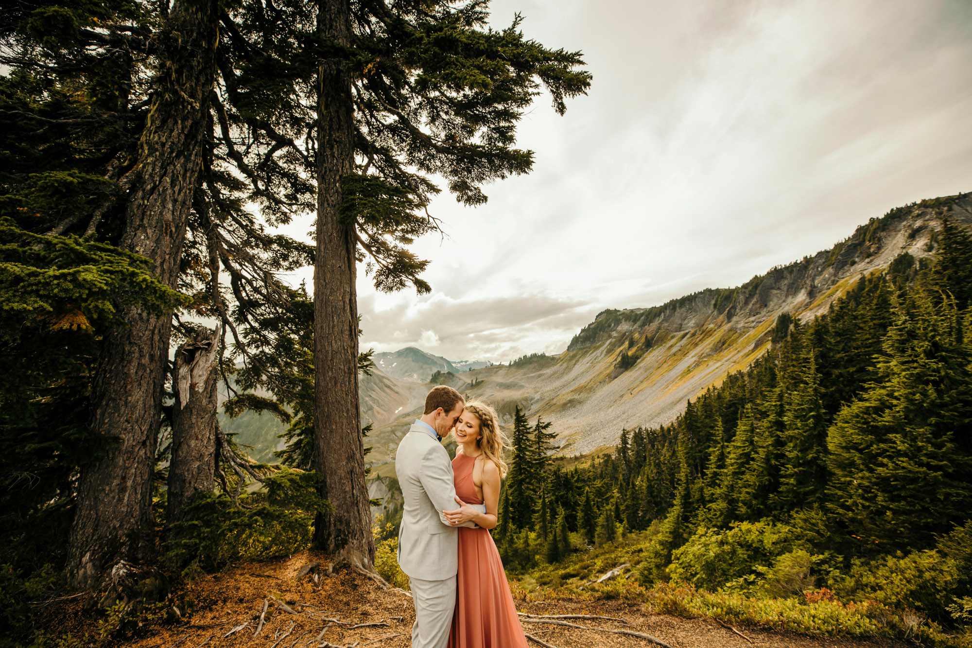
[{"label": "brown needle-strewn dirt ground with exposed roots around the couple's feet", "polygon": [[[295,577],[300,568],[313,561],[327,564],[324,556],[301,552],[286,560],[247,563],[224,574],[198,578],[181,593],[190,606],[186,623],[154,628],[138,638],[119,641],[118,645],[124,648],[244,645],[258,648],[408,648],[411,645],[411,625],[415,615],[408,594],[387,590],[350,570],[340,570],[330,576],[322,574],[319,584],[314,583],[312,576],[297,581]],[[257,632],[264,601],[267,609]],[[78,613],[80,605],[79,602],[65,601],[57,609],[51,609],[47,630],[55,635],[71,633],[74,636],[92,632],[90,618]],[[905,645],[895,641],[814,639],[738,628],[744,638],[711,620],[646,615],[642,605],[618,600],[517,601],[517,609],[525,615],[584,614],[623,620],[566,620],[584,627],[580,629],[538,623],[544,619],[524,616],[524,630],[538,639],[529,642],[531,648],[544,645],[554,648],[658,645],[645,637],[595,629],[640,632],[672,648],[898,648]]]}]

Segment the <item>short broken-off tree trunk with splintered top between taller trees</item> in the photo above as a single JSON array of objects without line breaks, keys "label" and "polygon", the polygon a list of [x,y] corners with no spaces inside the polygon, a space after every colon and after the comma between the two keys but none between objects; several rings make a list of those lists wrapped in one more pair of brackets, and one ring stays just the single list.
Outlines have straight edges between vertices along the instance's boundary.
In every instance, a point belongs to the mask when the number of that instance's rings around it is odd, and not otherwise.
[{"label": "short broken-off tree trunk with splintered top between taller trees", "polygon": [[219,329],[200,328],[176,351],[166,525],[185,519],[184,509],[197,492],[213,490],[219,359]]}]

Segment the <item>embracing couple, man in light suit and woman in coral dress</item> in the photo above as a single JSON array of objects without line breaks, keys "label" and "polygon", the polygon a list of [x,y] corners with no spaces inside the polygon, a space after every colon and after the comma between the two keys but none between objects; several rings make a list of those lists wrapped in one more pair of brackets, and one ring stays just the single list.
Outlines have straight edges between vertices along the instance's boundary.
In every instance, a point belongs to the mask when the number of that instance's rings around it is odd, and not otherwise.
[{"label": "embracing couple, man in light suit and woman in coral dress", "polygon": [[[451,464],[441,445],[450,433],[459,445]],[[399,566],[415,602],[412,648],[526,648],[489,534],[506,471],[496,412],[434,387],[399,443],[395,470],[404,497]]]}]

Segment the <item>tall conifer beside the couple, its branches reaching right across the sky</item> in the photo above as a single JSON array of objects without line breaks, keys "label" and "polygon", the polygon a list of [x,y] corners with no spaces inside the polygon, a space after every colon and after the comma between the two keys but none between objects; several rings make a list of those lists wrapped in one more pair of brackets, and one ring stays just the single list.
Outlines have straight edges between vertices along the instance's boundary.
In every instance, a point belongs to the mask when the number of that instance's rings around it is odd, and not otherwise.
[{"label": "tall conifer beside the couple, its branches reaching right across the sky", "polygon": [[[484,202],[482,183],[530,170],[530,153],[513,148],[514,128],[538,85],[563,113],[564,97],[590,83],[576,70],[579,54],[525,40],[520,18],[507,29],[488,30],[485,9],[485,2],[394,11],[348,0],[319,4],[320,59],[308,70],[317,75],[319,187],[315,467],[325,477],[322,496],[346,513],[319,521],[315,542],[343,553],[350,542],[363,562],[369,562],[371,535],[357,420],[359,246],[379,289],[411,283],[428,292],[418,278],[426,262],[404,245],[436,227],[425,213],[438,191],[432,174],[460,201]],[[459,69],[464,72],[456,74]],[[511,503],[519,506],[515,495]]]}]

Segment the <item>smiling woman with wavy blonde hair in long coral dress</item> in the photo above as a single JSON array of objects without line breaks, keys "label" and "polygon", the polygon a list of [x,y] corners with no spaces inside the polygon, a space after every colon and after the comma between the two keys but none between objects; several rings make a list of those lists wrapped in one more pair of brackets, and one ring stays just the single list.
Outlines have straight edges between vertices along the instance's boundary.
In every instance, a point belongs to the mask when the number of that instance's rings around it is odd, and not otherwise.
[{"label": "smiling woman with wavy blonde hair in long coral dress", "polygon": [[479,525],[459,529],[456,611],[448,648],[527,648],[503,561],[489,534],[497,524],[500,480],[506,472],[498,420],[493,408],[472,402],[452,430],[459,444],[452,461],[456,499],[461,504],[486,504],[486,513],[463,506],[446,514],[453,524],[471,520]]}]

